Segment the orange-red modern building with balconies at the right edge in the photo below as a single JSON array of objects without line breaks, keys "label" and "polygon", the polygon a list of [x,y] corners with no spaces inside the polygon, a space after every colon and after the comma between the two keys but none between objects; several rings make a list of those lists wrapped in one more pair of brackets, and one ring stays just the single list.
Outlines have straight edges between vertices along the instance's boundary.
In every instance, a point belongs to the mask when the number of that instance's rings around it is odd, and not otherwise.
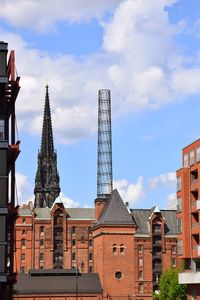
[{"label": "orange-red modern building with balconies at the right edge", "polygon": [[200,140],[182,150],[177,171],[178,256],[185,266],[179,282],[188,285],[188,299],[200,299]]}]

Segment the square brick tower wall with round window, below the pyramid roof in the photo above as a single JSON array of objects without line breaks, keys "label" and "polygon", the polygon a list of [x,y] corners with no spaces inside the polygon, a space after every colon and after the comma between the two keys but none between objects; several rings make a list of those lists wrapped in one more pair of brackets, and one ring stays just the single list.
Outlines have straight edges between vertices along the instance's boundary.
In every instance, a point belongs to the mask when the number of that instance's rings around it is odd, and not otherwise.
[{"label": "square brick tower wall with round window, below the pyramid roof", "polygon": [[133,226],[101,226],[93,231],[94,271],[99,274],[104,295],[111,299],[134,295],[134,232]]}]

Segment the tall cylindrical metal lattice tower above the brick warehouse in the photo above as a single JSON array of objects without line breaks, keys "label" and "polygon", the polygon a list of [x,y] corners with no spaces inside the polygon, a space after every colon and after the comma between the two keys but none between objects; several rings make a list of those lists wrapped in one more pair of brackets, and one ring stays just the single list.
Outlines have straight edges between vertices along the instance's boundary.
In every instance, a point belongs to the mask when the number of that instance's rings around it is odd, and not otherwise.
[{"label": "tall cylindrical metal lattice tower above the brick warehouse", "polygon": [[113,189],[110,90],[98,92],[97,197],[106,198]]}]

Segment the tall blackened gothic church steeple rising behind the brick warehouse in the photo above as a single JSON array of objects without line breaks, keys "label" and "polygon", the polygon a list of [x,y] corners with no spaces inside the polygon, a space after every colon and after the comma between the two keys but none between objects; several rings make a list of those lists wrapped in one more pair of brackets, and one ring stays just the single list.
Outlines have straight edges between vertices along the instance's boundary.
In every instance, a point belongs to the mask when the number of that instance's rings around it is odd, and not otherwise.
[{"label": "tall blackened gothic church steeple rising behind the brick warehouse", "polygon": [[60,193],[57,154],[54,151],[49,91],[46,86],[41,148],[35,177],[35,207],[51,207]]}]

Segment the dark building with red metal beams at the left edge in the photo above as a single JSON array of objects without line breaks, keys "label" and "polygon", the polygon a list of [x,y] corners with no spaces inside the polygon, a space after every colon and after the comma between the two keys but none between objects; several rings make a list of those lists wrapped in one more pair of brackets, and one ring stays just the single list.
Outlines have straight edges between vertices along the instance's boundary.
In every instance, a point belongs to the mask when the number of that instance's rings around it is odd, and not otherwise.
[{"label": "dark building with red metal beams at the left edge", "polygon": [[[15,137],[15,101],[20,89],[15,77],[15,53],[7,62],[7,43],[0,42],[0,299],[12,299],[14,226],[18,212],[15,203],[15,160],[19,141]],[[10,188],[9,188],[10,186]]]}]

